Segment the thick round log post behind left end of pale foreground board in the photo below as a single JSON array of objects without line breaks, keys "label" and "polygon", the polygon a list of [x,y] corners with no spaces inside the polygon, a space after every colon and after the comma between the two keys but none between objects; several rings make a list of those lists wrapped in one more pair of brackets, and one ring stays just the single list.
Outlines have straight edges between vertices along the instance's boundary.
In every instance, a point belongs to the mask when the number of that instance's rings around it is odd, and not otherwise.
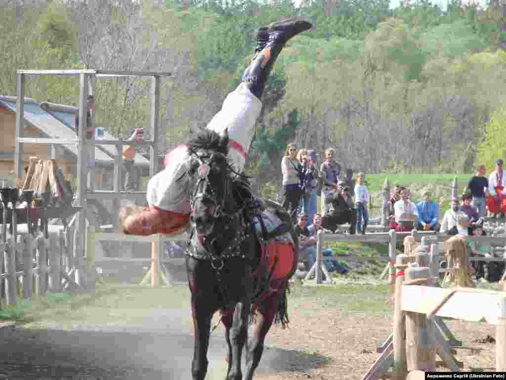
[{"label": "thick round log post behind left end of pale foreground board", "polygon": [[[423,278],[431,279],[430,268],[414,267],[406,270],[406,281]],[[408,371],[415,369],[422,371],[435,370],[436,345],[434,341],[434,331],[432,331],[432,329],[434,329],[434,324],[427,320],[426,314],[406,312]]]}]

